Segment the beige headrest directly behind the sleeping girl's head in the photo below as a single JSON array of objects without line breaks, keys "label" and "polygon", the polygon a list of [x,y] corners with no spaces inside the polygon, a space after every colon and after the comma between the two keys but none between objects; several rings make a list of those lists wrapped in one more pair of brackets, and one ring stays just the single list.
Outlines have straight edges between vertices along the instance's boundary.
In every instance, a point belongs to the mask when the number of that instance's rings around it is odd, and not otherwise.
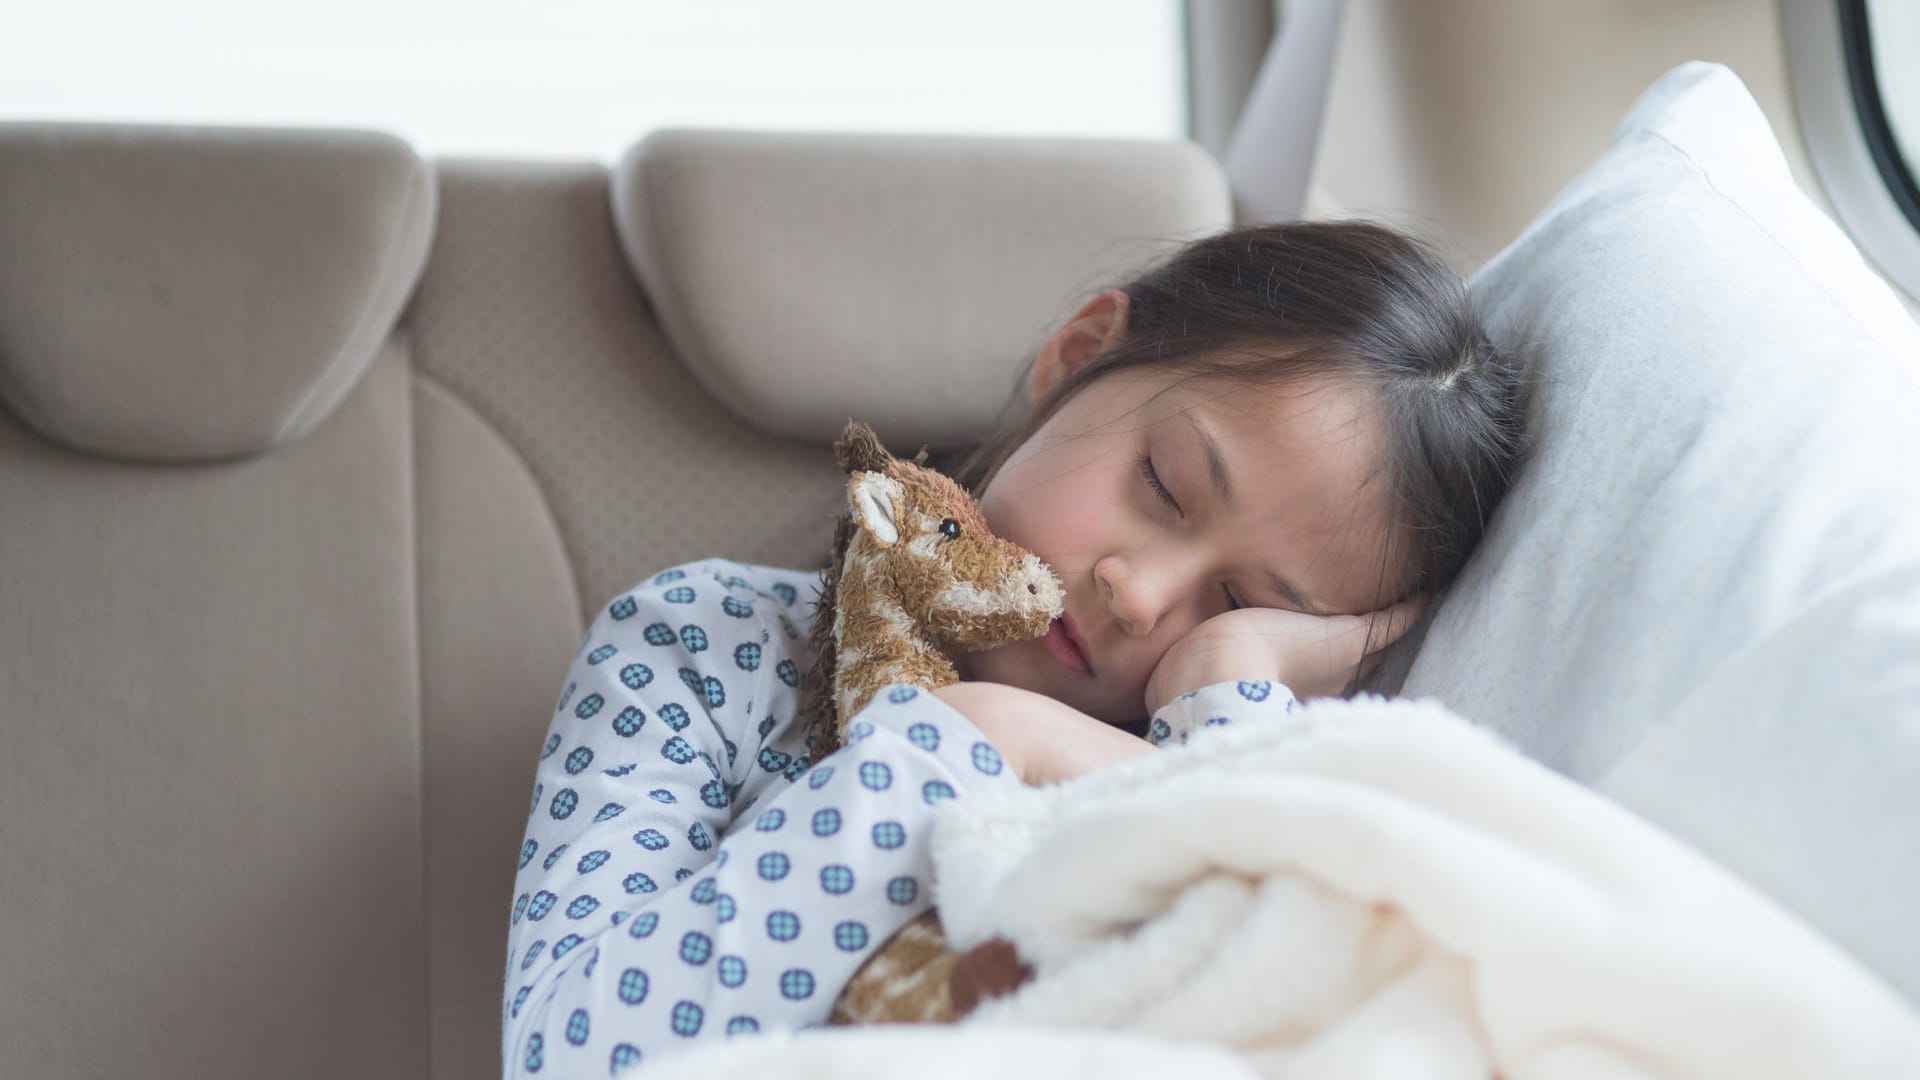
[{"label": "beige headrest directly behind the sleeping girl's head", "polygon": [[659,131],[612,177],[628,261],[741,419],[897,452],[983,434],[1077,304],[1231,223],[1185,142]]}]

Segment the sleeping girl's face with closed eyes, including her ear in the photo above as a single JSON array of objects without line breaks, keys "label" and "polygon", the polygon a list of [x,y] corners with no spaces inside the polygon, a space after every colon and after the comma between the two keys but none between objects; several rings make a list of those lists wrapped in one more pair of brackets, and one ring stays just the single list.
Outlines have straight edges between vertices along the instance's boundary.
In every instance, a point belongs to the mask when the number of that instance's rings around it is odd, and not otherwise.
[{"label": "sleeping girl's face with closed eyes, including her ear", "polygon": [[[1108,292],[1062,327],[1041,350],[1035,398],[1116,340],[1123,315],[1125,296]],[[1046,638],[956,657],[960,676],[1139,723],[1154,665],[1213,615],[1352,615],[1396,600],[1384,494],[1377,417],[1352,386],[1104,375],[979,500],[996,534],[1060,575],[1066,613]]]}]

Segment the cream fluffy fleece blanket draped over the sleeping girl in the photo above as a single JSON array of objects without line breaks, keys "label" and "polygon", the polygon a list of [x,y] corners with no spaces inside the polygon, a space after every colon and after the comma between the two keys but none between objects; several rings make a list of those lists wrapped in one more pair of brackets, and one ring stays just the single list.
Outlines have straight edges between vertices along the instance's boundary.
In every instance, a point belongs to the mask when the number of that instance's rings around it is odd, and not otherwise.
[{"label": "cream fluffy fleece blanket draped over the sleeping girl", "polygon": [[[745,1040],[684,1065],[708,1078],[924,1076],[935,1059],[991,1080],[1920,1078],[1920,1013],[1884,982],[1432,701],[1315,701],[941,813],[948,938],[1012,940],[1033,982],[956,1030]],[[1158,1049],[1094,1068],[1089,1028]]]}]

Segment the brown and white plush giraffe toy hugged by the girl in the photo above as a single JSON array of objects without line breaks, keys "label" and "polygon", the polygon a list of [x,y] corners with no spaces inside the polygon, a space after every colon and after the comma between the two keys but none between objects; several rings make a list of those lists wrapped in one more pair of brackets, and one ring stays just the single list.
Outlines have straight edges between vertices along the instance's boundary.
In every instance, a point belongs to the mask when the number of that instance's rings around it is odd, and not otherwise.
[{"label": "brown and white plush giraffe toy hugged by the girl", "polygon": [[[822,573],[803,682],[814,761],[843,744],[847,721],[881,686],[958,682],[948,655],[1039,638],[1064,600],[1052,569],[989,532],[979,503],[925,467],[925,450],[893,457],[849,421],[833,452],[849,475],[847,513]],[[860,965],[829,1022],[950,1022],[956,961],[927,911]]]}]

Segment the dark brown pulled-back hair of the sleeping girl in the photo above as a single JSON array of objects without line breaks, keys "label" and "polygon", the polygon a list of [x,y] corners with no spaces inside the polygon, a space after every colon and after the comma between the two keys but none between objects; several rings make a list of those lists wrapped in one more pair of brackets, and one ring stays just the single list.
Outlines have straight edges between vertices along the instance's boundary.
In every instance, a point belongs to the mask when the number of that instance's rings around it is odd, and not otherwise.
[{"label": "dark brown pulled-back hair of the sleeping girl", "polygon": [[1046,417],[1114,371],[1334,377],[1365,388],[1384,421],[1407,594],[1453,580],[1517,469],[1524,377],[1438,254],[1367,221],[1258,225],[1196,240],[1121,288],[1123,338],[1031,409],[1016,394],[1014,417],[952,467],[960,484],[979,496]]}]

